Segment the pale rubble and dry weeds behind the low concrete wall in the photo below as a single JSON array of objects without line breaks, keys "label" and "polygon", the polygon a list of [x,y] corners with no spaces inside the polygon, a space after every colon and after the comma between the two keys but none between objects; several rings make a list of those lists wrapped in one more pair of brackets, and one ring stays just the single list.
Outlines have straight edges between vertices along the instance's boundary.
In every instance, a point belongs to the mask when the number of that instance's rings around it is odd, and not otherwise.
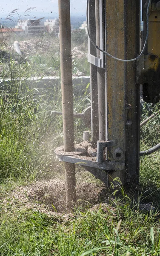
[{"label": "pale rubble and dry weeds behind the low concrete wall", "polygon": [[[15,64],[22,64],[29,62],[32,63],[32,60],[36,63],[36,59],[34,56],[39,56],[40,60],[40,68],[38,67],[38,75],[39,76],[57,76],[59,75],[60,70],[60,52],[59,52],[59,39],[54,38],[51,40],[50,38],[45,41],[45,38],[32,38],[26,41],[15,41],[18,44],[20,49],[20,55],[15,51],[14,44],[9,47],[3,47],[7,56],[13,56],[12,59],[15,60]],[[14,42],[14,43],[15,43]],[[74,47],[72,49],[72,60],[73,60],[73,76],[84,76],[85,73],[81,72],[77,68],[77,60],[87,58],[87,53],[78,49],[78,47]],[[21,60],[22,59],[22,60]],[[45,60],[45,62],[43,62]],[[9,66],[11,61],[11,57],[7,58],[6,65]],[[31,63],[30,63],[31,62]],[[52,65],[54,63],[54,65]],[[39,63],[38,63],[39,65]],[[0,75],[3,73],[4,64],[2,65],[2,61],[0,62]],[[8,71],[7,71],[8,70]],[[9,67],[5,68],[5,74],[3,74],[4,78],[9,78]]]}]

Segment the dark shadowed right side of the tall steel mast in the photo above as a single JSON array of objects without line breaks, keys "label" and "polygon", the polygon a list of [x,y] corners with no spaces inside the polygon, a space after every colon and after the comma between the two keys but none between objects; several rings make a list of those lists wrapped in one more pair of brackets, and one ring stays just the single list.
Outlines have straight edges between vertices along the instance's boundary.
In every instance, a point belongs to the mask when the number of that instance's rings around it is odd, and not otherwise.
[{"label": "dark shadowed right side of the tall steel mast", "polygon": [[[140,0],[126,0],[125,3],[125,53],[126,58],[135,58],[140,53]],[[131,105],[127,111],[125,126],[125,183],[139,182],[140,152],[140,87],[136,84],[136,61],[126,63],[126,102]]]}]

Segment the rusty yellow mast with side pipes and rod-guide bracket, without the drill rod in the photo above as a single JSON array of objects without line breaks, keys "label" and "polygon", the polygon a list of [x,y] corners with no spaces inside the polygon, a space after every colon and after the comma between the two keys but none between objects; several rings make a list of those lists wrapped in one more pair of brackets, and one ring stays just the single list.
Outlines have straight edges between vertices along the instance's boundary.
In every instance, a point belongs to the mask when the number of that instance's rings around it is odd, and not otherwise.
[{"label": "rusty yellow mast with side pipes and rod-guide bracket, without the drill rod", "polygon": [[[136,57],[140,51],[140,0],[116,0],[114,5],[113,0],[89,0],[89,3],[92,40],[117,58]],[[138,183],[140,91],[136,83],[136,61],[124,63],[104,57],[90,41],[88,57],[91,141],[93,148],[97,147],[97,159],[82,156],[73,147],[70,152],[64,147],[55,153],[64,162],[80,164],[94,175],[101,173],[100,179],[105,183],[115,177],[122,184]]]}]

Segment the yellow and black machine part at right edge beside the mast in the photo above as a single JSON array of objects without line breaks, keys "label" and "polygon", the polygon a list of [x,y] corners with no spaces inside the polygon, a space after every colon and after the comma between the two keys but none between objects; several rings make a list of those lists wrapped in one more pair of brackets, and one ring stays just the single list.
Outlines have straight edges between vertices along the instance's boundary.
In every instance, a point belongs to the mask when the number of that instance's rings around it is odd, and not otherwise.
[{"label": "yellow and black machine part at right edge beside the mast", "polygon": [[[160,10],[152,2],[149,12],[149,38],[144,55],[143,68],[139,68],[139,83],[143,84],[143,98],[146,102],[156,104],[160,100]],[[144,5],[144,13],[145,13]],[[146,17],[144,19],[144,38],[146,34]],[[143,42],[144,43],[144,42]],[[142,61],[140,61],[142,62]]]}]

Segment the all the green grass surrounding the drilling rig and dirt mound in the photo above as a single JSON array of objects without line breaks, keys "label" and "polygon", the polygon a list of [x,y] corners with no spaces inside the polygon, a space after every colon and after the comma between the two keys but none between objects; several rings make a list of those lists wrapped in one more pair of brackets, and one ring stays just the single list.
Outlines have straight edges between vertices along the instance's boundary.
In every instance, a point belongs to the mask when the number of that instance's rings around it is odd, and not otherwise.
[{"label": "all the green grass surrounding the drilling rig and dirt mound", "polygon": [[[1,90],[2,201],[16,184],[23,186],[62,172],[61,165],[57,169],[56,164],[56,170],[50,167],[55,164],[54,148],[63,144],[62,118],[51,116],[51,110],[61,110],[60,90],[37,90],[18,80]],[[74,97],[74,111],[81,112],[88,104],[86,90],[82,96]],[[82,123],[75,122],[74,128],[76,140],[80,140]],[[151,128],[155,133],[157,127],[151,125]],[[146,129],[143,128],[143,134]],[[151,145],[152,140],[149,136],[143,139],[141,148]],[[4,204],[0,207],[0,256],[123,256],[127,251],[135,256],[160,255],[159,213],[139,208],[146,202],[159,206],[159,159],[159,152],[141,158],[139,193],[130,191],[128,197],[119,184],[114,190],[121,193],[110,192],[106,207],[100,206],[97,211],[77,208],[66,219],[63,215],[53,217],[33,209],[11,209],[6,202],[6,207]],[[46,173],[49,168],[51,172]]]}]

